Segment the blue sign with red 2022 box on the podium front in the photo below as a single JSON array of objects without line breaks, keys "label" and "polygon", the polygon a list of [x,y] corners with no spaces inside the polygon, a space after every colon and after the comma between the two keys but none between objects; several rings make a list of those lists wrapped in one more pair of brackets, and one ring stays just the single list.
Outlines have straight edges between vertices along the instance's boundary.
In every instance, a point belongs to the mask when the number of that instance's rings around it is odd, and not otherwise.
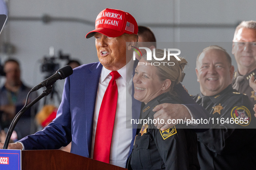
[{"label": "blue sign with red 2022 box on the podium front", "polygon": [[0,149],[0,170],[21,170],[21,150]]}]

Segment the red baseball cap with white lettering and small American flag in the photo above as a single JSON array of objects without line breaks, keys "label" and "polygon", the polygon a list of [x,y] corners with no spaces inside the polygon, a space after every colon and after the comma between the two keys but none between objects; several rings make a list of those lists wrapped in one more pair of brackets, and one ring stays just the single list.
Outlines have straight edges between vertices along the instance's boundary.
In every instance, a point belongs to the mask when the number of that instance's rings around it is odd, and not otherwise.
[{"label": "red baseball cap with white lettering and small American flag", "polygon": [[95,32],[108,37],[119,37],[124,33],[138,34],[138,24],[130,13],[107,8],[99,13],[95,21],[95,29],[89,32],[85,38],[91,38]]}]

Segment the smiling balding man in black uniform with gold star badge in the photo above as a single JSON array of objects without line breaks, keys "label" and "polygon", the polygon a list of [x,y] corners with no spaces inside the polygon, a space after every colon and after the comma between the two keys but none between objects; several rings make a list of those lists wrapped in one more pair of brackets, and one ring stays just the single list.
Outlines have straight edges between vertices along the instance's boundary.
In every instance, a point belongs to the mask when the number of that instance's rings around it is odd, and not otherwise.
[{"label": "smiling balding man in black uniform with gold star badge", "polygon": [[222,47],[207,47],[197,57],[201,93],[193,98],[214,121],[211,129],[197,132],[201,170],[256,169],[253,104],[232,88],[233,72],[231,57]]}]

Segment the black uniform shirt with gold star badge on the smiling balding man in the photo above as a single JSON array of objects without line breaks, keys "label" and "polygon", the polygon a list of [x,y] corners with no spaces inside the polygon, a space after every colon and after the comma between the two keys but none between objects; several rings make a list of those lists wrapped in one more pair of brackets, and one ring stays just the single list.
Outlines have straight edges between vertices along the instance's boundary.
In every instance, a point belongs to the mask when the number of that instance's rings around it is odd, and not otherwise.
[{"label": "black uniform shirt with gold star badge on the smiling balding man", "polygon": [[[211,129],[197,133],[201,170],[256,170],[256,129],[248,129],[255,128],[256,118],[249,98],[231,85],[215,96],[200,93],[193,98],[214,120]],[[248,123],[236,124],[232,118]]]}]

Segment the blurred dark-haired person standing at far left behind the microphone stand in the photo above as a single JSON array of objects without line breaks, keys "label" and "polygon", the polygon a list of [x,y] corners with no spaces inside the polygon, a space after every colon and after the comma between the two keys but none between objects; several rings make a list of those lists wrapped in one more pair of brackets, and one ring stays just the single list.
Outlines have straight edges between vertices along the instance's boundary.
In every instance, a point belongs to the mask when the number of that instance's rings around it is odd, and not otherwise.
[{"label": "blurred dark-haired person standing at far left behind the microphone stand", "polygon": [[[23,108],[30,89],[20,79],[19,63],[15,59],[6,60],[4,63],[6,81],[0,88],[0,112],[2,129],[9,128],[14,116]],[[28,104],[37,97],[37,92],[29,96]],[[36,132],[34,117],[37,112],[37,104],[27,110],[16,125],[18,139]]]}]

